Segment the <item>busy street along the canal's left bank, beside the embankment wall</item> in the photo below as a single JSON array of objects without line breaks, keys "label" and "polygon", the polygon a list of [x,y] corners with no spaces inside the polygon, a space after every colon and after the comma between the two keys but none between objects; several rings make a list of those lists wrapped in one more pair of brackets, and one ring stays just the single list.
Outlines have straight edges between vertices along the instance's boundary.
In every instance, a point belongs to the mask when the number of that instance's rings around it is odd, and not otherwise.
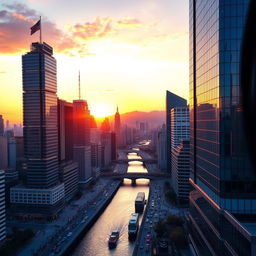
[{"label": "busy street along the canal's left bank, beside the embankment wall", "polygon": [[[19,256],[58,255],[67,241],[77,235],[81,225],[86,225],[105,200],[119,187],[118,181],[99,179],[91,191],[71,202],[60,213],[57,220],[48,223],[26,222],[24,227],[37,227],[35,237],[19,253]],[[15,221],[12,221],[15,222]],[[14,224],[15,223],[10,223]],[[19,226],[20,226],[19,221]]]}]

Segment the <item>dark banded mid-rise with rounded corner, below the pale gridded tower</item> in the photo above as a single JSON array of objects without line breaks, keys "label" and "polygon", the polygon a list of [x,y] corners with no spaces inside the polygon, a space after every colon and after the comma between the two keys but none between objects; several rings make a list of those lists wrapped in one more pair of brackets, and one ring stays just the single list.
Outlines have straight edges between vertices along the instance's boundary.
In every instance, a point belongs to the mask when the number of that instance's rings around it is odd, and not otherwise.
[{"label": "dark banded mid-rise with rounded corner, below the pale gridded tower", "polygon": [[172,149],[172,187],[181,204],[188,203],[190,191],[190,147],[189,140],[180,140],[180,144]]}]

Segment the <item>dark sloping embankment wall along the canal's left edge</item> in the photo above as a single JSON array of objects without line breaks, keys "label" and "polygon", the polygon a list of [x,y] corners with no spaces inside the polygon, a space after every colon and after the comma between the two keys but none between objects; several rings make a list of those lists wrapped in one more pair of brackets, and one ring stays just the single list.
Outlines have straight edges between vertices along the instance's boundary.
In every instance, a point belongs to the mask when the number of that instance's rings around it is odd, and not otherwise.
[{"label": "dark sloping embankment wall along the canal's left edge", "polygon": [[115,196],[116,192],[118,191],[119,187],[121,186],[121,184],[122,184],[122,181],[118,182],[115,185],[116,187],[113,189],[112,192],[110,192],[109,196],[104,200],[104,202],[101,205],[99,205],[98,209],[95,210],[94,214],[88,217],[88,220],[86,221],[86,223],[83,223],[80,225],[78,230],[72,234],[72,236],[70,237],[70,240],[67,241],[65,246],[56,255],[70,256],[72,254],[72,251],[79,244],[79,242],[83,239],[85,234],[89,231],[89,229],[93,226],[93,224],[97,221],[97,219],[100,217],[100,215],[106,209],[106,207],[109,205],[111,200],[114,198],[114,196]]}]

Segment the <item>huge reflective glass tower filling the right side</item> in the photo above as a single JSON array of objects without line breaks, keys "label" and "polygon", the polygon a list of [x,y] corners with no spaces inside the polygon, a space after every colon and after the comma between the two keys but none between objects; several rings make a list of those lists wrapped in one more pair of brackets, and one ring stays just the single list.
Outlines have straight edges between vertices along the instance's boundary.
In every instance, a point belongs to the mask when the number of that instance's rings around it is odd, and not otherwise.
[{"label": "huge reflective glass tower filling the right side", "polygon": [[242,125],[248,0],[190,0],[190,232],[199,255],[256,255],[256,175]]}]

